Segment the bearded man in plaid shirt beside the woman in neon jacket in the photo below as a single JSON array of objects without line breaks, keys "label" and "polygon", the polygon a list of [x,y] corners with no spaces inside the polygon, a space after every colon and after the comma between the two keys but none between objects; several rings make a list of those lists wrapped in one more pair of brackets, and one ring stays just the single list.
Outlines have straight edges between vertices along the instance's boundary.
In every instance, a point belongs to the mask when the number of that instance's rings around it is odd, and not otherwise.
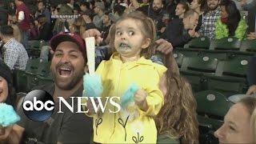
[{"label": "bearded man in plaid shirt beside the woman in neon jacket", "polygon": [[220,0],[206,0],[206,2],[206,14],[202,16],[202,26],[199,33],[201,36],[214,39],[216,22],[221,16],[221,10],[218,6]]}]

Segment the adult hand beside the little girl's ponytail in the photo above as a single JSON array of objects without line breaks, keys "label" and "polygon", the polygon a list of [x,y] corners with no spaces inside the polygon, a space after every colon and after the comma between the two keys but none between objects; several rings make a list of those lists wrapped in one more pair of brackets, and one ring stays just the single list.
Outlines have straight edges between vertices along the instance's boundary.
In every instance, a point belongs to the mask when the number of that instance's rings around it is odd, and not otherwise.
[{"label": "adult hand beside the little girl's ponytail", "polygon": [[155,43],[157,44],[156,50],[162,52],[162,54],[170,54],[170,52],[174,49],[170,42],[162,38],[155,41]]}]

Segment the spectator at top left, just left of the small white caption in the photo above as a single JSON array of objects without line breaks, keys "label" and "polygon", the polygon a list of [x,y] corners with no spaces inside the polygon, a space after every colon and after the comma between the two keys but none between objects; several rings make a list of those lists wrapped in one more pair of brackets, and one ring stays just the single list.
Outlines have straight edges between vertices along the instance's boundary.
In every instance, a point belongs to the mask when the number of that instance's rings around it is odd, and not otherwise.
[{"label": "spectator at top left, just left of the small white caption", "polygon": [[38,2],[38,10],[34,14],[34,17],[38,18],[38,16],[41,14],[45,14],[47,22],[50,23],[50,10],[46,9],[46,2],[43,1]]}]

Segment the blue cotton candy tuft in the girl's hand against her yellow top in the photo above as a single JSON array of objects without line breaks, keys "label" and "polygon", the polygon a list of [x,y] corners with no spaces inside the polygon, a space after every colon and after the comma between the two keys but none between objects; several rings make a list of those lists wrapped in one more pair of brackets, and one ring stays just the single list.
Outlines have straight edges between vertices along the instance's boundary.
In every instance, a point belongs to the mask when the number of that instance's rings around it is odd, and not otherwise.
[{"label": "blue cotton candy tuft in the girl's hand against her yellow top", "polygon": [[132,84],[128,90],[126,90],[125,94],[122,95],[121,98],[121,106],[123,109],[128,106],[130,102],[134,102],[134,94],[137,92],[139,89],[138,85]]}]

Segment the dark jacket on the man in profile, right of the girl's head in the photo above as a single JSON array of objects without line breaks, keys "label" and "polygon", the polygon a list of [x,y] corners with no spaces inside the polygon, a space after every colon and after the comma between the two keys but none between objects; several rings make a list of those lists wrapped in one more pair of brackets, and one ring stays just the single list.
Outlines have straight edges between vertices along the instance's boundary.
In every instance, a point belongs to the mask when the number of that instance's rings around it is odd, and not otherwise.
[{"label": "dark jacket on the man in profile, right of the girl's head", "polygon": [[183,47],[191,39],[180,18],[175,18],[168,24],[162,38],[166,39],[174,47]]}]

